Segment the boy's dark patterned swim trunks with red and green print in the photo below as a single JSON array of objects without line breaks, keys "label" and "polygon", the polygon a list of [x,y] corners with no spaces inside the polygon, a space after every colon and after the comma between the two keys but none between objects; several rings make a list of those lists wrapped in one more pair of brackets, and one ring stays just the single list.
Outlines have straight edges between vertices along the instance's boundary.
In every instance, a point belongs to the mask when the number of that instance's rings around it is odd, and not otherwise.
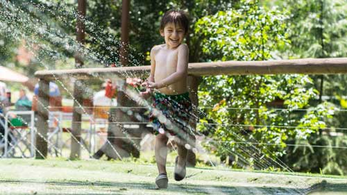
[{"label": "boy's dark patterned swim trunks with red and green print", "polygon": [[194,129],[189,126],[192,118],[192,102],[189,93],[178,95],[166,95],[155,93],[153,95],[153,108],[151,110],[151,121],[158,133],[169,133],[180,139],[187,139],[188,135],[194,135]]}]

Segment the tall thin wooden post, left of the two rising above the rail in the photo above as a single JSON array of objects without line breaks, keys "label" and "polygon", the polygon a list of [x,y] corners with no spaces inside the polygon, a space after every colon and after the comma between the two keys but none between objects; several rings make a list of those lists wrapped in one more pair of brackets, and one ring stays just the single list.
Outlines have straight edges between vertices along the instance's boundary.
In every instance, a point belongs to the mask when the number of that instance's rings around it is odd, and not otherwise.
[{"label": "tall thin wooden post, left of the two rising above the rail", "polygon": [[[83,44],[85,40],[85,25],[82,18],[85,17],[86,0],[78,0],[78,17],[76,26],[76,40]],[[79,69],[83,67],[83,60],[81,53],[76,53],[75,67]],[[79,108],[83,101],[83,83],[82,80],[76,80],[74,83],[74,109],[72,113],[72,130],[71,130],[71,159],[78,159],[81,157],[81,119],[82,110]]]}]

